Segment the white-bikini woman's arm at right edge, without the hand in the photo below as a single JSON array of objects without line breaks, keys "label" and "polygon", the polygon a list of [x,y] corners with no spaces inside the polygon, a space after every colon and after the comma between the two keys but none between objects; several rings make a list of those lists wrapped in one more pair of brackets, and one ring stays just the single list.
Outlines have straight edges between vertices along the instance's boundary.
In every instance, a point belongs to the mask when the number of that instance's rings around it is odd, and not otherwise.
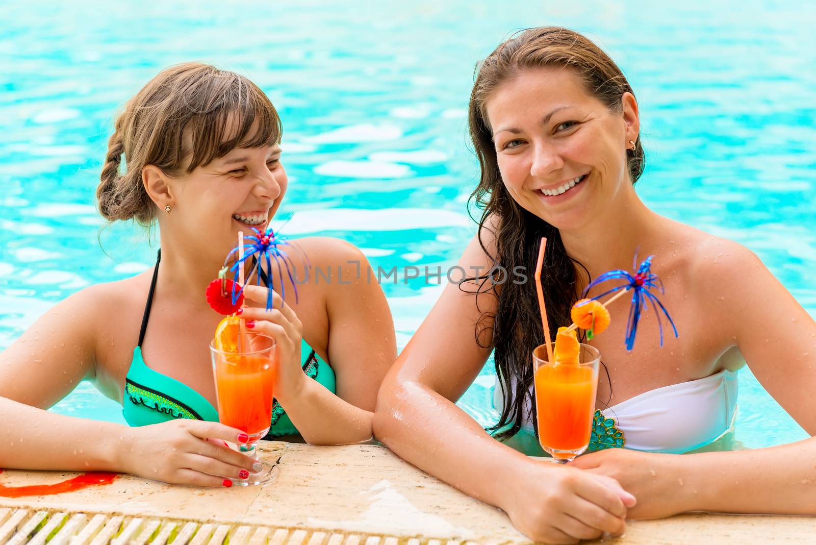
[{"label": "white-bikini woman's arm at right edge, without the hand", "polygon": [[[771,396],[810,435],[816,433],[816,321],[756,255],[734,242],[723,256],[721,293],[712,309],[736,336],[748,366]],[[714,275],[716,270],[709,270]],[[712,276],[709,276],[712,277]],[[725,296],[725,299],[721,297]],[[816,438],[768,449],[695,454],[698,508],[816,515]]]}]

